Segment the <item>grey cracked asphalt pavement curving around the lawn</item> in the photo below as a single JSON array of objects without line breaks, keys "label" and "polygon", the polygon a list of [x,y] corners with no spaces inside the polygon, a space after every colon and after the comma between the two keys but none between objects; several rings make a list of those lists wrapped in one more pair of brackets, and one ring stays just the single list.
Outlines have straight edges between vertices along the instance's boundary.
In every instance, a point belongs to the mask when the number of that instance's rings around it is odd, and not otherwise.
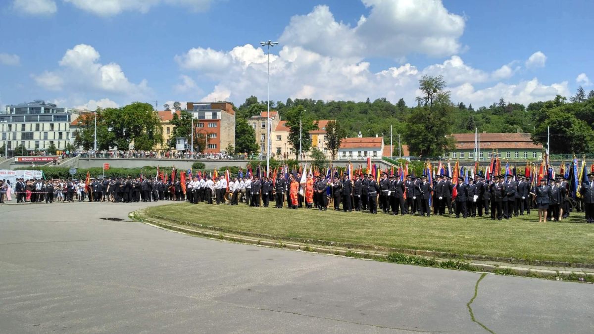
[{"label": "grey cracked asphalt pavement curving around the lawn", "polygon": [[473,321],[480,273],[233,244],[127,218],[156,204],[168,203],[0,206],[0,333],[594,333],[591,284],[489,274]]}]

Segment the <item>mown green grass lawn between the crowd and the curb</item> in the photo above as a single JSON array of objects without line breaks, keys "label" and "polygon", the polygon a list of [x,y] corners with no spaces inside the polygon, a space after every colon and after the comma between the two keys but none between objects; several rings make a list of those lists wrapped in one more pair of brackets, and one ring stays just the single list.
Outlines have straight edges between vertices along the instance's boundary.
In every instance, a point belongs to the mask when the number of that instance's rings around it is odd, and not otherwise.
[{"label": "mown green grass lawn between the crowd and the curb", "polygon": [[148,215],[236,231],[349,242],[381,247],[444,251],[524,260],[594,263],[594,224],[583,213],[562,222],[538,223],[530,216],[510,220],[453,216],[388,216],[360,212],[274,209],[189,203],[150,207]]}]

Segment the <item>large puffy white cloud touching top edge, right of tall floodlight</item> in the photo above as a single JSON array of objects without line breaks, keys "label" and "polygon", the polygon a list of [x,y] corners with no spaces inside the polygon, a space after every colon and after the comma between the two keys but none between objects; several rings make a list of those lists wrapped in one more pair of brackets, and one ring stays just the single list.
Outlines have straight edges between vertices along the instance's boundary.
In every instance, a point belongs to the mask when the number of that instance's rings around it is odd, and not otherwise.
[{"label": "large puffy white cloud touching top edge, right of tall floodlight", "polygon": [[280,42],[302,46],[321,55],[402,58],[410,53],[447,56],[462,51],[462,16],[440,0],[362,0],[371,8],[355,27],[337,22],[330,8],[318,5],[307,15],[295,15]]}]

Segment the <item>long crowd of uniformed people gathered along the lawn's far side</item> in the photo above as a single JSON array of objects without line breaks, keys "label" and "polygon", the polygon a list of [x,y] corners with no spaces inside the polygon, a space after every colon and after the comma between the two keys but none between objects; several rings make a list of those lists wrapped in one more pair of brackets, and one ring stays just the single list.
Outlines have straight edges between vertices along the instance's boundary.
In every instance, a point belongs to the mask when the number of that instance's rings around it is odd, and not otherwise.
[{"label": "long crowd of uniformed people gathered along the lawn's far side", "polygon": [[[305,182],[303,182],[305,181]],[[406,175],[381,173],[377,181],[368,174],[334,175],[300,173],[276,178],[251,176],[226,180],[220,176],[204,178],[195,176],[182,184],[181,178],[165,181],[157,178],[111,178],[83,180],[52,179],[49,181],[18,179],[14,194],[7,181],[0,181],[0,202],[17,198],[17,203],[53,203],[54,201],[188,201],[198,204],[249,204],[249,206],[281,209],[318,209],[345,212],[380,212],[391,215],[455,215],[456,218],[487,217],[492,220],[510,219],[529,215],[538,210],[539,222],[560,221],[573,210],[585,212],[586,222],[594,223],[594,174],[588,174],[580,187],[577,206],[570,203],[567,179],[542,178],[539,185],[531,186],[523,175],[496,175],[491,180],[475,175],[465,183],[463,178],[452,180],[447,175],[433,175],[432,182],[426,175],[416,178]],[[285,203],[286,202],[286,203]],[[447,209],[447,213],[446,213]]]}]

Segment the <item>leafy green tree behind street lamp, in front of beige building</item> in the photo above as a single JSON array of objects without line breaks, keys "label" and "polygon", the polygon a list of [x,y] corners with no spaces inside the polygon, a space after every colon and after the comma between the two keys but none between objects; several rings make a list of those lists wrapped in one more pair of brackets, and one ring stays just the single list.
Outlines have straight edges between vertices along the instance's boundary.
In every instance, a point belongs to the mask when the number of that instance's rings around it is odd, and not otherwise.
[{"label": "leafy green tree behind street lamp, in front of beige building", "polygon": [[301,118],[301,151],[309,152],[311,149],[311,138],[309,131],[318,129],[318,121],[314,115],[305,111],[302,106],[293,107],[285,113],[286,126],[289,128],[289,143],[295,150],[295,157],[299,159],[299,119]]}]

